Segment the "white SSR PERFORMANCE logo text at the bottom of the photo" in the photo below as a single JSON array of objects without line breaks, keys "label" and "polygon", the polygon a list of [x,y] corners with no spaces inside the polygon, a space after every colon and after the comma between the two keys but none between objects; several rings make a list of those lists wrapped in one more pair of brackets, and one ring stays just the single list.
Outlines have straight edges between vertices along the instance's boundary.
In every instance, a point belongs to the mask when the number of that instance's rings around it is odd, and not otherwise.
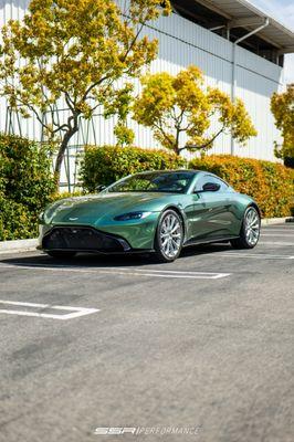
[{"label": "white SSR PERFORMANCE logo text at the bottom of the photo", "polygon": [[123,435],[123,434],[190,434],[199,433],[201,427],[97,427],[96,435]]}]

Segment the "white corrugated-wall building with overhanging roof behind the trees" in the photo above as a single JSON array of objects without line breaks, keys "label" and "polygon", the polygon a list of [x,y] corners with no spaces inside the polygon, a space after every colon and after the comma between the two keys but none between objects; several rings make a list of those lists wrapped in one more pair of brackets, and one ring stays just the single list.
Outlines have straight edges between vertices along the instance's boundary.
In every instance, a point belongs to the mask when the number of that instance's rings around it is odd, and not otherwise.
[{"label": "white corrugated-wall building with overhanging roof behind the trees", "polygon": [[[211,151],[274,160],[273,145],[280,134],[274,126],[270,99],[275,91],[284,87],[284,54],[294,52],[294,33],[245,0],[175,0],[171,3],[171,17],[162,17],[146,27],[146,33],[159,40],[159,54],[151,71],[177,73],[190,64],[198,65],[208,84],[244,101],[259,133],[246,147],[238,146],[229,136],[219,137]],[[0,25],[11,18],[21,19],[28,4],[29,0],[0,0]],[[113,144],[113,125],[114,120],[94,118],[82,125],[73,145]],[[158,146],[150,130],[132,125],[136,145]],[[10,115],[3,102],[0,130],[40,138],[38,124]],[[71,180],[75,169],[74,146],[65,161]]]}]

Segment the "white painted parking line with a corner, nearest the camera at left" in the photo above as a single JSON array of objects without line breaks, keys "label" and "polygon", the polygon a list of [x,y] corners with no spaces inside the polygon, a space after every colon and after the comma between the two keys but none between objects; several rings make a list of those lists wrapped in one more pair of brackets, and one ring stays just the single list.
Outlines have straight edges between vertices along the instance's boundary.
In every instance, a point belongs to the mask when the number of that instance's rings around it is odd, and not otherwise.
[{"label": "white painted parking line with a corner, nearest the camera at left", "polygon": [[84,307],[69,307],[65,305],[50,305],[50,304],[34,304],[34,303],[19,303],[15,301],[2,301],[0,299],[0,306],[3,305],[11,305],[11,306],[20,306],[20,307],[29,307],[29,308],[49,308],[55,311],[64,311],[64,312],[72,312],[65,315],[54,315],[49,313],[38,313],[38,312],[28,312],[28,311],[13,311],[13,309],[0,309],[0,313],[6,313],[8,315],[19,315],[19,316],[36,316],[42,318],[50,318],[50,319],[60,319],[60,320],[69,320],[74,319],[80,316],[91,315],[92,313],[99,312],[97,308],[84,308]]}]

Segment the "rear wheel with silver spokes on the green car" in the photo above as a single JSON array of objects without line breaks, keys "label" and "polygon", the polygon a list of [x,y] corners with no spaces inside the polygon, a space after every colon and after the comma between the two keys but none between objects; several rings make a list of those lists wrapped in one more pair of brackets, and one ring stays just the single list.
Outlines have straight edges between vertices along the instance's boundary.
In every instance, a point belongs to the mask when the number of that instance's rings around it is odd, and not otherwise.
[{"label": "rear wheel with silver spokes on the green car", "polygon": [[231,240],[234,249],[253,249],[259,242],[261,218],[258,210],[250,206],[244,213],[240,238]]}]

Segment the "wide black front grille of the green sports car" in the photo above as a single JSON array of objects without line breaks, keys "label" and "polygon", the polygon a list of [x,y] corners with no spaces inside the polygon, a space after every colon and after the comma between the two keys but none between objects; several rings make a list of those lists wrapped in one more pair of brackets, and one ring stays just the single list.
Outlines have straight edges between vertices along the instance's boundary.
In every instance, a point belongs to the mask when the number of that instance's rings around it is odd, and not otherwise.
[{"label": "wide black front grille of the green sports car", "polygon": [[45,250],[123,252],[125,241],[92,228],[56,227],[43,238]]}]

